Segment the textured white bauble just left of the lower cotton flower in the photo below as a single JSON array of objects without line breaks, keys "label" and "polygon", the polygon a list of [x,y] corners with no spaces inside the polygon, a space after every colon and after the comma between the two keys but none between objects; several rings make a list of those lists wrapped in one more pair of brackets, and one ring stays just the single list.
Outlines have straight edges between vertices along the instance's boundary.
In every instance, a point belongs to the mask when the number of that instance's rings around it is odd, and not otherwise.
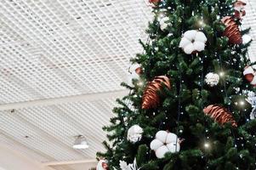
[{"label": "textured white bauble just left of the lower cotton flower", "polygon": [[143,129],[139,125],[134,125],[128,129],[127,139],[132,143],[138,142],[142,137]]}]

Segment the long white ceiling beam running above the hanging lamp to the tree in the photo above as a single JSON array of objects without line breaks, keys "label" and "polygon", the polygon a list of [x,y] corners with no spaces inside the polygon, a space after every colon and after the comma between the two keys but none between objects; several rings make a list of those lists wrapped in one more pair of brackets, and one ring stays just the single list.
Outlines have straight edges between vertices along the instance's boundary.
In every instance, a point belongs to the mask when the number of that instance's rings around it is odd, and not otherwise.
[{"label": "long white ceiling beam running above the hanging lamp to the tree", "polygon": [[98,94],[83,94],[83,95],[67,96],[67,97],[54,98],[54,99],[37,99],[33,101],[0,105],[0,111],[16,110],[16,109],[35,107],[35,106],[60,105],[65,103],[78,102],[78,101],[89,102],[89,101],[95,101],[99,99],[119,98],[127,94],[128,94],[128,90],[119,90],[119,91],[105,92],[105,93],[98,93]]}]

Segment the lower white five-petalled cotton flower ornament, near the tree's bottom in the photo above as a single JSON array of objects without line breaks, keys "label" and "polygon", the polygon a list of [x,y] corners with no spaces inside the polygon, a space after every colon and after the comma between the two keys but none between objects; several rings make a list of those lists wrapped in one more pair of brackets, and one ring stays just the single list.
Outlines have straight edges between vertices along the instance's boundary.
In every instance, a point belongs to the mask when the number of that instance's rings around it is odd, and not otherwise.
[{"label": "lower white five-petalled cotton flower ornament, near the tree's bottom", "polygon": [[156,139],[151,141],[151,150],[155,150],[157,158],[163,158],[167,152],[179,152],[179,142],[180,140],[176,134],[168,133],[167,131],[158,131],[156,133]]}]

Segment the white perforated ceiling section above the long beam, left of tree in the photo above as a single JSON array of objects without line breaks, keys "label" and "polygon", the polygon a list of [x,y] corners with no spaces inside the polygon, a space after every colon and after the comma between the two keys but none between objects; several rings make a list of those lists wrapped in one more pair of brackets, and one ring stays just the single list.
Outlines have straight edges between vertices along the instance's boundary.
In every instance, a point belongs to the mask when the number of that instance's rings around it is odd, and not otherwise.
[{"label": "white perforated ceiling section above the long beam, left of tree", "polygon": [[150,11],[136,0],[1,1],[1,103],[121,89]]}]

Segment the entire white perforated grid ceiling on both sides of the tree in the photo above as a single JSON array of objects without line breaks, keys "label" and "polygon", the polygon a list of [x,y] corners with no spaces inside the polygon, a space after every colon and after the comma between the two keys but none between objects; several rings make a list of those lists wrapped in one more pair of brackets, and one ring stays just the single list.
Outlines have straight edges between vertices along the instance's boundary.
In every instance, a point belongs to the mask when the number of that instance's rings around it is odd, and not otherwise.
[{"label": "entire white perforated grid ceiling on both sides of the tree", "polygon": [[[138,39],[146,39],[151,20],[146,2],[1,1],[0,144],[41,162],[89,160],[104,150],[101,127],[109,123],[117,105],[111,93],[122,90],[119,84],[127,79],[129,59],[142,51]],[[255,20],[256,2],[250,0],[242,28],[251,26],[253,39]],[[253,60],[255,43],[249,51]],[[38,105],[48,99],[99,93],[109,95]],[[26,101],[31,103],[22,103]],[[1,111],[1,105],[13,103],[19,107]],[[88,139],[88,150],[72,149],[78,134]],[[85,170],[94,163],[51,167]]]}]

